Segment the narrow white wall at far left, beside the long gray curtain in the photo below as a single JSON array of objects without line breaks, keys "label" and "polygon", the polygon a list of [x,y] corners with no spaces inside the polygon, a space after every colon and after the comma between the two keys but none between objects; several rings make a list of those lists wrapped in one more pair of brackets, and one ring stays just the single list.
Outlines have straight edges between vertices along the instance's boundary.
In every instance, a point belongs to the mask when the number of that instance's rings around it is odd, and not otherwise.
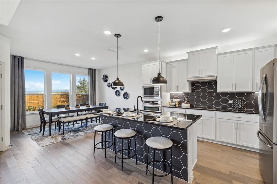
[{"label": "narrow white wall at far left, beside the long gray curtain", "polygon": [[[0,62],[3,65],[2,79],[2,136],[4,143],[2,144],[3,151],[10,146],[10,40],[0,35]],[[1,114],[0,114],[1,115]],[[1,117],[0,117],[1,118]]]}]

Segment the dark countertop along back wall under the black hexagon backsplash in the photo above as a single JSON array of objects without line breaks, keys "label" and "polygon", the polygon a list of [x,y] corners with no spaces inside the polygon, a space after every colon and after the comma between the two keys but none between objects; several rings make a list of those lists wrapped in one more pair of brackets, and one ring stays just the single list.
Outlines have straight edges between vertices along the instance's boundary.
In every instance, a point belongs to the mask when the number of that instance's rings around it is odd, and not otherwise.
[{"label": "dark countertop along back wall under the black hexagon backsplash", "polygon": [[230,113],[247,113],[247,114],[259,114],[259,110],[251,110],[251,109],[231,109],[231,108],[218,108],[218,107],[198,107],[198,106],[190,106],[190,107],[182,107],[178,106],[163,106],[168,108],[179,108],[179,109],[197,109],[197,110],[210,110],[210,111],[219,111],[219,112],[230,112]]}]

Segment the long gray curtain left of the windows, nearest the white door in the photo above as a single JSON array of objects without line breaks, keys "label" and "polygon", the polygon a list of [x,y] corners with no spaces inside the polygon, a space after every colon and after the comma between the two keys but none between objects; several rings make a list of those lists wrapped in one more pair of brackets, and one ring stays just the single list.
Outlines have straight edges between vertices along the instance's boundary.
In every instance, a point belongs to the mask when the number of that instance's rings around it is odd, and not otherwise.
[{"label": "long gray curtain left of the windows, nearest the white door", "polygon": [[12,56],[10,79],[10,130],[26,128],[24,57]]}]

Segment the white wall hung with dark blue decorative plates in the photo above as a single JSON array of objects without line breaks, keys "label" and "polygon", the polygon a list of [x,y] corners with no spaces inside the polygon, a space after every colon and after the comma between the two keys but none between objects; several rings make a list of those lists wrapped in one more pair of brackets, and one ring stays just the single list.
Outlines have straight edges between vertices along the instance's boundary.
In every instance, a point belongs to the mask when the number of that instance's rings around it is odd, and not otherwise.
[{"label": "white wall hung with dark blue decorative plates", "polygon": [[[119,79],[124,83],[125,89],[120,90],[120,96],[115,96],[115,90],[108,88],[107,83],[113,82],[117,78],[117,67],[105,68],[99,70],[99,102],[109,105],[109,108],[134,108],[137,104],[137,96],[142,96],[142,66],[141,63],[132,63],[119,66]],[[109,77],[108,82],[103,82],[102,76],[106,74]],[[119,89],[119,88],[117,88]],[[128,92],[129,99],[123,98],[123,93]],[[141,101],[139,108],[142,108]]]}]

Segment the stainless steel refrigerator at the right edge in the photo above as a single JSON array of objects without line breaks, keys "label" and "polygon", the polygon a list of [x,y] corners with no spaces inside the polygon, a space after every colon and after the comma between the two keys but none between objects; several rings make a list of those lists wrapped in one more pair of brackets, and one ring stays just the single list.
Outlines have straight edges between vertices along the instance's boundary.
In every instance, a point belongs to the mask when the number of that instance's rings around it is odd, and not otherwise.
[{"label": "stainless steel refrigerator at the right edge", "polygon": [[259,167],[265,184],[277,184],[277,58],[260,70]]}]

